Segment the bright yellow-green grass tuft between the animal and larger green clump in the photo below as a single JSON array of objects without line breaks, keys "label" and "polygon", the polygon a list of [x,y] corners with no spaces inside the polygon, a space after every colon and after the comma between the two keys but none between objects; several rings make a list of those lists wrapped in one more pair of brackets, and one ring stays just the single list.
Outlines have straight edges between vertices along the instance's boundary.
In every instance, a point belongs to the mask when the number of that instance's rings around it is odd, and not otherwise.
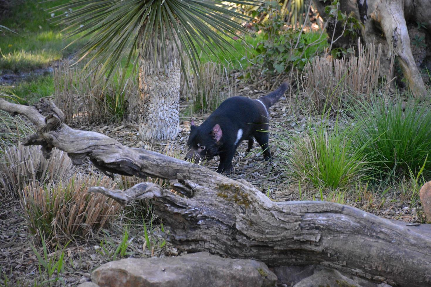
[{"label": "bright yellow-green grass tuft between the animal and larger green clump", "polygon": [[292,176],[314,188],[348,188],[366,170],[361,148],[352,146],[346,132],[318,128],[294,139],[290,149]]}]

